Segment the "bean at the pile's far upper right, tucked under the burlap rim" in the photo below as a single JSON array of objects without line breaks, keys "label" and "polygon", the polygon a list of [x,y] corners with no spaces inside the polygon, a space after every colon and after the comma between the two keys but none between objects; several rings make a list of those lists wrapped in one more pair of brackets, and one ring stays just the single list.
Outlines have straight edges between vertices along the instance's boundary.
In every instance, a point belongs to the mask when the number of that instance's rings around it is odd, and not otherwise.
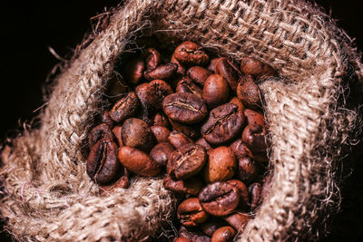
[{"label": "bean at the pile's far upper right, tucked under the burlap rim", "polygon": [[245,57],[240,61],[240,71],[255,78],[266,78],[275,74],[275,70],[270,65],[251,57]]}]

